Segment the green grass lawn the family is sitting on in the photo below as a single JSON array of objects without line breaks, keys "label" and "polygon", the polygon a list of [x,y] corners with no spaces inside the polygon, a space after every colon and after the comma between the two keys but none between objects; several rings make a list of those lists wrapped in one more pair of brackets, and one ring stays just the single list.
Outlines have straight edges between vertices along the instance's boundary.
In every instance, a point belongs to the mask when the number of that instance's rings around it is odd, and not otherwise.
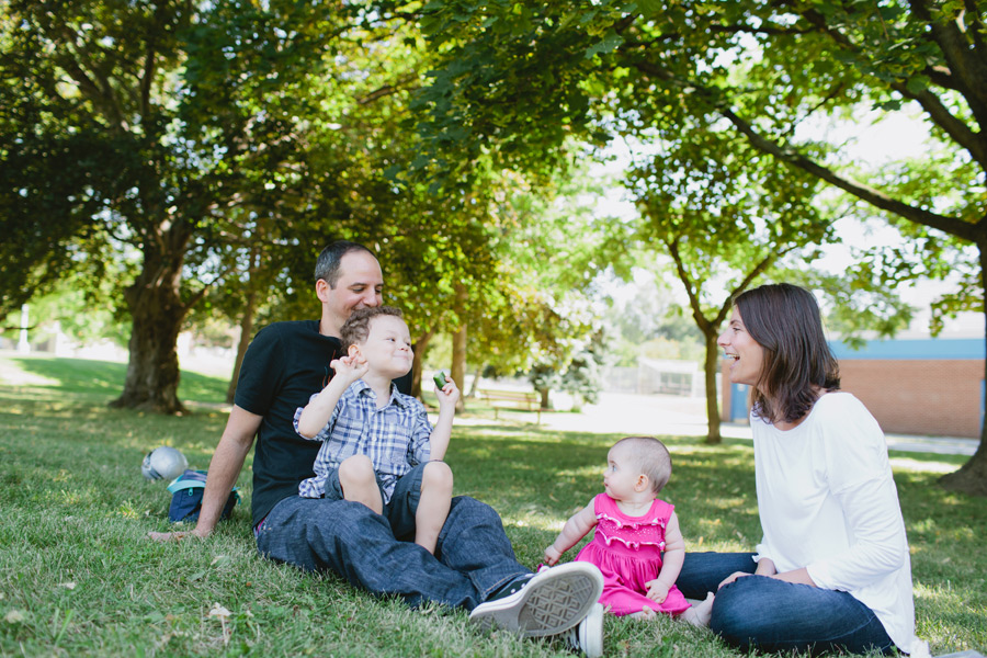
[{"label": "green grass lawn the family is sitting on", "polygon": [[[226,421],[222,408],[160,417],[109,409],[122,364],[0,355],[0,656],[570,656],[554,640],[483,633],[462,611],[408,610],[331,575],[257,556],[247,504],[208,541],[156,544],[172,527],[167,483],[140,477],[152,447],[180,449],[205,468]],[[183,373],[186,401],[218,402],[226,382]],[[601,490],[614,434],[558,433],[463,417],[447,456],[456,494],[494,506],[522,564],[534,567],[577,508]],[[703,445],[661,436],[690,551],[749,551],[759,538],[749,442]],[[987,653],[987,504],[935,486],[965,457],[896,453],[911,544],[919,635],[933,654]],[[894,456],[894,455],[893,455]],[[571,559],[574,548],[564,559]],[[224,614],[213,614],[216,605]],[[609,616],[606,656],[734,657],[684,623]]]}]

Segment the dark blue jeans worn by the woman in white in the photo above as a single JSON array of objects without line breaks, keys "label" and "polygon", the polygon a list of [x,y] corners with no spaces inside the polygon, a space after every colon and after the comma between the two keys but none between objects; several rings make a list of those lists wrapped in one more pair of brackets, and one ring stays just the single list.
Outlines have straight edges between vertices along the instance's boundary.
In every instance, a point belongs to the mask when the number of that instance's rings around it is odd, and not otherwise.
[{"label": "dark blue jeans worn by the woman in white", "polygon": [[765,576],[745,576],[717,591],[730,574],[753,574],[752,558],[752,553],[687,553],[676,581],[690,599],[716,594],[710,627],[728,644],[745,651],[893,650],[881,621],[847,592]]}]

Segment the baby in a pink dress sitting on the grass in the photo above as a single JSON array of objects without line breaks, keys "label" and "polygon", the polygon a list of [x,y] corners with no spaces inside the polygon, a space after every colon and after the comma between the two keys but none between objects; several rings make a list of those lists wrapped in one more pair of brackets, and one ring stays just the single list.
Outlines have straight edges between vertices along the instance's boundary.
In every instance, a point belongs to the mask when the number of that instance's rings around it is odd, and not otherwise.
[{"label": "baby in a pink dress sitting on the grass", "polygon": [[595,526],[593,541],[576,559],[592,563],[603,572],[600,603],[611,613],[653,619],[663,612],[708,626],[712,594],[693,606],[676,587],[685,541],[674,508],[657,498],[670,475],[671,456],[657,439],[617,441],[606,455],[604,492],[569,519],[545,549],[545,561],[557,563]]}]

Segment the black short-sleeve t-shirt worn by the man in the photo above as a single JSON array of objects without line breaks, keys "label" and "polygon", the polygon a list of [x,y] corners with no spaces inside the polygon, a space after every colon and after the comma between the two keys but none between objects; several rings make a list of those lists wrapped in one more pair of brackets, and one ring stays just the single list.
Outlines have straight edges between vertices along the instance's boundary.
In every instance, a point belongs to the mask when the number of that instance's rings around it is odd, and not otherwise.
[{"label": "black short-sleeve t-shirt worn by the man", "polygon": [[[253,525],[298,484],[314,477],[321,445],[295,432],[295,409],[308,404],[332,377],[329,363],[342,355],[339,339],[319,333],[318,320],[275,322],[250,342],[237,381],[236,405],[262,416],[253,454]],[[396,379],[408,393],[411,374]]]}]

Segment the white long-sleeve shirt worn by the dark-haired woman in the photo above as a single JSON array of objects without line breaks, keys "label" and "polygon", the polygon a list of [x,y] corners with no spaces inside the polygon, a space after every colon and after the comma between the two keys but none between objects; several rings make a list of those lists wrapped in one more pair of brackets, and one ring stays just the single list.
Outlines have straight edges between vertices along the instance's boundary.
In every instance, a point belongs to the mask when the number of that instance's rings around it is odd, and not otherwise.
[{"label": "white long-sleeve shirt worn by the dark-haired woman", "polygon": [[898,491],[877,421],[849,393],[828,393],[796,428],[751,415],[763,540],[758,558],[805,567],[821,587],[849,592],[911,653],[911,560]]}]

